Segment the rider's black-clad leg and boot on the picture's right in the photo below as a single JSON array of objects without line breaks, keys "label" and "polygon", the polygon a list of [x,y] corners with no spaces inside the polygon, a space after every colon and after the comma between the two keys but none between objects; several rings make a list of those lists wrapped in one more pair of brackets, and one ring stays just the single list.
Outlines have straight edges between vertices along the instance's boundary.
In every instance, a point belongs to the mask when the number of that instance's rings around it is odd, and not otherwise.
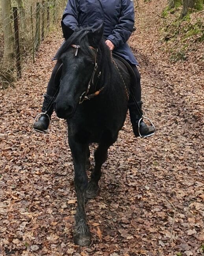
[{"label": "rider's black-clad leg and boot on the picture's right", "polygon": [[[136,84],[131,85],[131,93],[130,93],[130,99],[128,102],[129,106],[129,112],[130,112],[130,120],[132,123],[133,132],[136,137],[139,136],[139,131],[141,135],[148,135],[154,132],[154,128],[152,126],[148,126],[145,124],[145,122],[142,120],[140,122],[140,126],[138,128],[139,120],[141,119],[143,113],[142,113],[142,104],[141,101],[141,76],[137,69],[137,66],[131,64],[132,69],[134,70],[135,77],[136,77]],[[138,106],[135,104],[135,101],[137,101]]]}]

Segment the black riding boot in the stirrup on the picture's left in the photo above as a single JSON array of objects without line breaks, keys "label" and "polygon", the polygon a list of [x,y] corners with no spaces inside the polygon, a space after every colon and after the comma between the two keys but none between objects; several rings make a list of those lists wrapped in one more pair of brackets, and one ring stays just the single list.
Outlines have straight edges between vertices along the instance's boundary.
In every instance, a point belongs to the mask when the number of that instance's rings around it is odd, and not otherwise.
[{"label": "black riding boot in the stirrup on the picture's left", "polygon": [[40,132],[46,132],[48,130],[51,115],[54,111],[53,104],[50,104],[52,97],[50,95],[44,95],[44,102],[42,107],[42,114],[39,117],[38,121],[35,122],[33,128]]}]

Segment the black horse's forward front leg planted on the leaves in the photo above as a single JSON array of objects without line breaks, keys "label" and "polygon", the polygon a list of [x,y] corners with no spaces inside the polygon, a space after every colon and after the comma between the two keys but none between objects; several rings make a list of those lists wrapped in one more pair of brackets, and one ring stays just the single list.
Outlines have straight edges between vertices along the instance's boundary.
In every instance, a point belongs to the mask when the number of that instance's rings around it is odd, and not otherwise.
[{"label": "black horse's forward front leg planted on the leaves", "polygon": [[88,246],[91,243],[91,236],[89,227],[87,226],[84,198],[88,185],[88,177],[86,174],[87,145],[76,143],[71,137],[69,137],[69,145],[74,161],[74,186],[77,196],[74,243],[80,246]]}]

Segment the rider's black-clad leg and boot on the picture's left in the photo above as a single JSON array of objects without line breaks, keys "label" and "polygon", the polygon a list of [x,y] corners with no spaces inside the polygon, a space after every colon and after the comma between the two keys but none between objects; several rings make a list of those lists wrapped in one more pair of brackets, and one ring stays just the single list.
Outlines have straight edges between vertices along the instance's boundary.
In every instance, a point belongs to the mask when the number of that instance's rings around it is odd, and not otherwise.
[{"label": "rider's black-clad leg and boot on the picture's left", "polygon": [[[52,75],[50,77],[50,81],[48,82],[47,86],[47,91],[46,94],[44,95],[44,101],[43,101],[43,107],[41,112],[45,113],[50,117],[54,111],[54,106],[53,104],[50,104],[52,97],[56,94],[57,89],[59,87],[60,79],[61,79],[61,74],[60,72],[57,72],[59,70],[59,67],[61,66],[61,61],[57,61],[53,71]],[[56,76],[57,74],[57,76]],[[49,126],[49,118],[45,114],[42,114],[38,121],[35,122],[34,124],[34,129],[39,130],[39,131],[45,131],[48,129]]]}]

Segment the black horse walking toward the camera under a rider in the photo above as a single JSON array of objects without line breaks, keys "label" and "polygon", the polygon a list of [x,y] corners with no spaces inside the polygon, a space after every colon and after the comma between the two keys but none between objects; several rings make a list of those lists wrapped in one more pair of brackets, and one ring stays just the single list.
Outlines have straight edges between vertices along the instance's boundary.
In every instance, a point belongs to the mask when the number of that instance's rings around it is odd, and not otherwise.
[{"label": "black horse walking toward the camera under a rider", "polygon": [[[63,70],[54,109],[57,117],[67,119],[68,124],[78,203],[74,243],[80,246],[91,243],[85,198],[94,198],[98,193],[102,164],[126,118],[131,83],[126,66],[111,57],[102,35],[103,27],[94,31],[80,29],[67,36],[56,55]],[[88,182],[90,143],[98,143],[98,148]]]}]

